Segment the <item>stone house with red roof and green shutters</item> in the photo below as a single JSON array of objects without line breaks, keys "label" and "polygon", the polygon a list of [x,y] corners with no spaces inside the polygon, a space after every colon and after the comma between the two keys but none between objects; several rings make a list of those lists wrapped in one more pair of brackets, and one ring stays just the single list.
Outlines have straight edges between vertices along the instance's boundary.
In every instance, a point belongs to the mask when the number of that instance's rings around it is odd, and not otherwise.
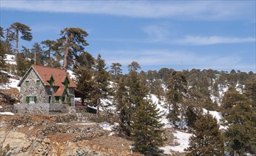
[{"label": "stone house with red roof and green shutters", "polygon": [[21,104],[70,104],[76,84],[64,69],[32,65],[18,84]]}]

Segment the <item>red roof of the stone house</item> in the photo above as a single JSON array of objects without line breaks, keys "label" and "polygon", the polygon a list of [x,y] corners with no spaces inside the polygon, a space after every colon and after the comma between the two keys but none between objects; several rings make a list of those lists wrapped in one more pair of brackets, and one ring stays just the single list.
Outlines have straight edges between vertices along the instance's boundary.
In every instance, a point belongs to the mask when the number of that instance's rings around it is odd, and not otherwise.
[{"label": "red roof of the stone house", "polygon": [[[39,66],[39,65],[32,65],[32,67],[36,70],[36,73],[39,74],[39,77],[41,77],[41,80],[43,81],[44,84],[46,84],[46,86],[50,85],[48,81],[51,79],[51,77],[53,77],[54,79],[53,85],[60,88],[64,87],[65,89],[63,82],[65,81],[66,77],[68,77],[68,73],[64,69]],[[68,77],[68,81],[70,82],[70,84],[68,84],[68,87],[76,88],[76,84],[73,82],[73,80],[70,77]]]}]

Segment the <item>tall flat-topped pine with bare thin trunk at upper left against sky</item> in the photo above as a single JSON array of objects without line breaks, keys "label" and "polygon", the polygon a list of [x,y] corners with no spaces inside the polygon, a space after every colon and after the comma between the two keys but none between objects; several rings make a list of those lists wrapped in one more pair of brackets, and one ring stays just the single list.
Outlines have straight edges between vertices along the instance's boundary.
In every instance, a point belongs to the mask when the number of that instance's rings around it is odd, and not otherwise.
[{"label": "tall flat-topped pine with bare thin trunk at upper left against sky", "polygon": [[[26,26],[22,23],[12,23],[9,30],[12,30],[11,33],[14,36],[14,39],[16,41],[15,45],[15,55],[17,56],[19,52],[19,32],[21,33],[21,39],[31,41],[33,36],[31,33],[31,28],[29,26]],[[17,57],[16,57],[17,58]]]}]

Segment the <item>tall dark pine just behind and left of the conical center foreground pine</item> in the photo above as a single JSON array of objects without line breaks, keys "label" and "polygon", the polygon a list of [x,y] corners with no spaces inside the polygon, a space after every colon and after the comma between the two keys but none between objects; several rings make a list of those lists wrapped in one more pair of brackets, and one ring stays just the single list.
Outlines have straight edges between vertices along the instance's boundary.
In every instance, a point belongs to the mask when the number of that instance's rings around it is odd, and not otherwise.
[{"label": "tall dark pine just behind and left of the conical center foreground pine", "polygon": [[116,92],[116,103],[118,111],[120,111],[119,120],[121,122],[121,133],[130,137],[131,123],[133,113],[140,105],[146,95],[145,87],[141,83],[139,74],[140,69],[138,62],[132,62],[128,65],[130,72],[126,78],[121,78],[118,82],[118,91]]}]

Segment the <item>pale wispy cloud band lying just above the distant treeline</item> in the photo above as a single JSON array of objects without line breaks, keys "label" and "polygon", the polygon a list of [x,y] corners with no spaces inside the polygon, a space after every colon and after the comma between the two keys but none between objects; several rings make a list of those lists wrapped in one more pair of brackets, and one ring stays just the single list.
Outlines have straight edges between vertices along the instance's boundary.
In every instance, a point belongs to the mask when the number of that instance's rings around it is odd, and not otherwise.
[{"label": "pale wispy cloud band lying just above the distant treeline", "polygon": [[[101,55],[107,65],[120,62],[126,68],[130,62],[136,61],[142,67],[193,67],[198,69],[242,69],[253,70],[254,65],[242,63],[242,55],[200,55],[197,52],[172,50],[103,50]],[[249,72],[249,71],[248,71]]]}]

